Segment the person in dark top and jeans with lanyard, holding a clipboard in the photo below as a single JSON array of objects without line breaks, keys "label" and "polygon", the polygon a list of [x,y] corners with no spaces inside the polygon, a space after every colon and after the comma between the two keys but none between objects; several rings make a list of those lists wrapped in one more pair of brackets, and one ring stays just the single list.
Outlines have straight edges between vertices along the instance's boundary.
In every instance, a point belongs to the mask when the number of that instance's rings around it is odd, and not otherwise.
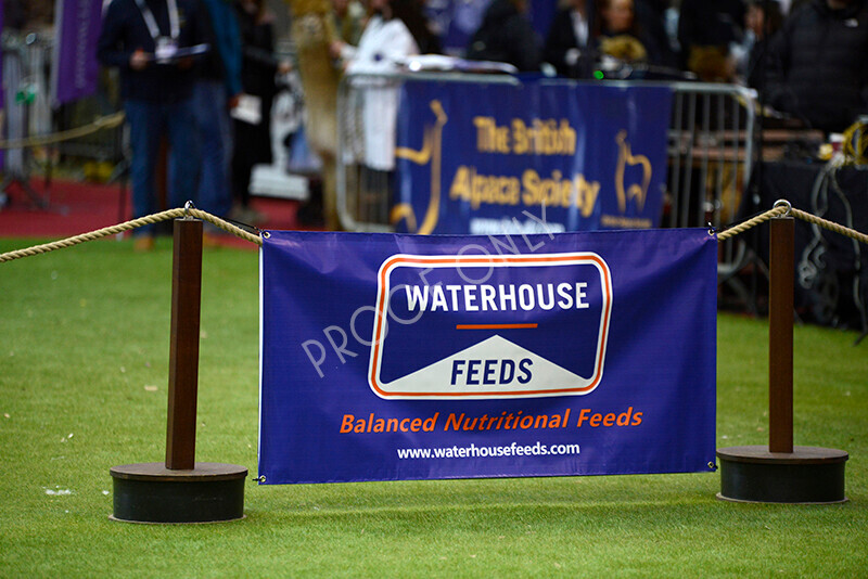
[{"label": "person in dark top and jeans with lanyard, holding a clipboard", "polygon": [[[168,204],[194,194],[193,56],[204,38],[193,0],[113,0],[102,22],[97,57],[120,72],[120,95],[130,129],[133,217],[161,209],[155,172],[161,141],[168,140]],[[154,245],[154,228],[136,230],[133,247]]]}]

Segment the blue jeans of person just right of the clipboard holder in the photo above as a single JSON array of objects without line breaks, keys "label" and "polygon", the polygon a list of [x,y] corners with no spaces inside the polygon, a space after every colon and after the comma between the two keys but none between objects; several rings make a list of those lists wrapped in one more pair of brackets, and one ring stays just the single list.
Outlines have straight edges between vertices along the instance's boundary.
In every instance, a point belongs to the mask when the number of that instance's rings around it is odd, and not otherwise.
[{"label": "blue jeans of person just right of the clipboard holder", "polygon": [[196,206],[218,217],[226,217],[232,207],[229,182],[232,125],[222,82],[196,81],[193,87],[193,115],[200,157]]}]

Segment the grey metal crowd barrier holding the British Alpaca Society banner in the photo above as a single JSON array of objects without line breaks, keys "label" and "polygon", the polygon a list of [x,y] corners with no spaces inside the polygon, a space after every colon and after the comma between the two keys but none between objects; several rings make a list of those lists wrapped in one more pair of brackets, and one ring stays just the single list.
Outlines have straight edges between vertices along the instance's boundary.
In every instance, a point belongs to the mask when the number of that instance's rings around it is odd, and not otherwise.
[{"label": "grey metal crowd barrier holding the British Alpaca Society banner", "polygon": [[[393,131],[397,93],[407,80],[443,83],[520,85],[507,75],[410,73],[391,75],[347,75],[337,97],[337,210],[341,223],[349,231],[393,231],[390,211],[390,170],[394,166],[366,157],[367,125]],[[546,82],[544,80],[542,82]],[[563,79],[551,82],[563,85]],[[583,82],[569,81],[580,90]],[[614,81],[616,86],[661,82]],[[668,177],[662,227],[719,227],[735,220],[742,194],[748,189],[755,153],[756,92],[735,85],[707,82],[666,82],[673,91],[667,138]],[[371,98],[373,95],[373,98]],[[379,97],[378,97],[379,95]],[[383,95],[386,95],[383,98]],[[382,107],[371,102],[382,101]],[[390,119],[390,116],[392,117]],[[379,168],[372,168],[378,167]],[[749,259],[743,242],[720,243],[719,274],[730,280]],[[743,288],[735,287],[743,295]]]}]

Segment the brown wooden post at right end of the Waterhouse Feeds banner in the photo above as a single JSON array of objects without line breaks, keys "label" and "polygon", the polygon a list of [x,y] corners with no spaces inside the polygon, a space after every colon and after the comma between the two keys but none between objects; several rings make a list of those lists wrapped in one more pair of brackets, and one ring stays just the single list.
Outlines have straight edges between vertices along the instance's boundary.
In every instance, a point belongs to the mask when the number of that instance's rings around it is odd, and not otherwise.
[{"label": "brown wooden post at right end of the Waterhouse Feeds banner", "polygon": [[793,451],[794,220],[771,219],[768,312],[768,450]]}]

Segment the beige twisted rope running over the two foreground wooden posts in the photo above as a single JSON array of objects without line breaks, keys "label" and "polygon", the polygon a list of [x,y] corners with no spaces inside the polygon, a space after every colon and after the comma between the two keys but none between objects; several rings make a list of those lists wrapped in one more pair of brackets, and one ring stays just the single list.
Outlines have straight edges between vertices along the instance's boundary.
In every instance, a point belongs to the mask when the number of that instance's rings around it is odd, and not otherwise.
[{"label": "beige twisted rope running over the two foreground wooden posts", "polygon": [[[235,235],[237,237],[241,237],[244,241],[255,243],[256,245],[263,245],[261,236],[254,235],[253,233],[244,231],[238,226],[225,221],[219,217],[214,216],[207,211],[203,211],[202,209],[196,209],[194,207],[191,207],[190,205],[192,204],[188,203],[188,207],[184,208],[168,209],[158,214],[140,217],[138,219],[132,219],[130,221],[125,221],[124,223],[119,223],[117,226],[111,226],[107,228],[102,228],[95,231],[91,231],[89,233],[82,233],[80,235],[67,237],[65,240],[59,240],[42,245],[35,245],[33,247],[26,247],[24,249],[16,249],[14,252],[0,254],[0,263],[4,261],[12,261],[13,259],[20,259],[22,257],[30,257],[35,255],[47,254],[49,252],[53,252],[54,249],[72,247],[74,245],[78,245],[79,243],[94,241],[99,240],[100,237],[107,237],[110,235],[116,235],[118,233],[123,233],[124,231],[129,231],[131,229],[140,228],[142,226],[158,223],[159,221],[166,221],[168,219],[177,219],[180,217],[195,217],[197,219],[202,219],[203,221],[207,221],[220,228],[221,230]],[[787,214],[792,214],[794,217],[797,217],[799,219],[808,221],[810,223],[815,223],[821,228],[834,231],[835,233],[840,233],[841,235],[845,235],[847,237],[851,237],[853,240],[856,240],[858,242],[868,245],[868,235],[866,235],[865,233],[861,233],[854,229],[845,228],[833,221],[829,221],[827,219],[822,219],[820,217],[791,207],[789,202],[778,202],[776,203],[775,208],[769,209],[761,215],[757,215],[756,217],[752,217],[746,221],[742,221],[741,223],[733,226],[725,231],[722,231],[720,233],[717,234],[717,241],[725,241],[728,240],[729,237],[735,237],[736,235],[744,233],[749,229],[756,227],[761,223],[764,223],[769,219],[781,217]]]}]

